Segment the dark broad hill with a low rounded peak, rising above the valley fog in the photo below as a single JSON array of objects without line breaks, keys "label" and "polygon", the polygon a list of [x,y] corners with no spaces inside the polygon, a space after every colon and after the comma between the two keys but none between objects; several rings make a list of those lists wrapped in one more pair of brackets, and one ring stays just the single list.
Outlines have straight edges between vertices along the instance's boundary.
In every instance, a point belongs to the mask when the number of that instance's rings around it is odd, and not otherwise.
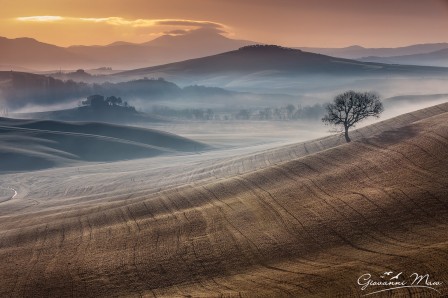
[{"label": "dark broad hill with a low rounded peak, rising above the valley fog", "polygon": [[113,77],[164,77],[176,83],[226,86],[238,80],[262,78],[265,83],[305,77],[379,75],[448,75],[448,68],[366,63],[279,46],[255,45],[223,54],[166,65],[141,68]]}]

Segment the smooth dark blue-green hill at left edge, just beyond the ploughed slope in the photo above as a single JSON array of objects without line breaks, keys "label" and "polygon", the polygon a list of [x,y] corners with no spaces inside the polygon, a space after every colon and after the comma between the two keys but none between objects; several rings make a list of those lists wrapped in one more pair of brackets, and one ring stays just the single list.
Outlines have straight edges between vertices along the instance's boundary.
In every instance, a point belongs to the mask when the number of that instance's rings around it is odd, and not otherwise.
[{"label": "smooth dark blue-green hill at left edge, just beyond the ploughed slope", "polygon": [[0,118],[0,172],[196,152],[205,144],[157,130],[95,122]]}]

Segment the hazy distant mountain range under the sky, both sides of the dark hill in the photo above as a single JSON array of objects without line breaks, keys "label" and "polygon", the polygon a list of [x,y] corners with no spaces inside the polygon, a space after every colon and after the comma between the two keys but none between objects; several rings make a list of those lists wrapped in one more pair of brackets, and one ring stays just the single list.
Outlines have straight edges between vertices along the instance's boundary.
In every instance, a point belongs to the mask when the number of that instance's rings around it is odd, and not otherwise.
[{"label": "hazy distant mountain range under the sky, both sides of the dark hill", "polygon": [[[32,38],[0,37],[0,70],[32,72],[99,67],[135,69],[215,55],[254,44],[258,43],[230,39],[216,31],[204,29],[193,30],[182,35],[163,35],[140,44],[118,41],[104,46],[59,47]],[[398,48],[350,46],[346,48],[300,47],[297,49],[327,56],[373,62],[433,66],[448,64],[446,56],[438,54],[438,51],[448,50],[448,43],[418,44]],[[401,58],[401,56],[421,54],[429,56]],[[398,57],[390,60],[379,58],[395,56]],[[432,56],[435,57],[432,58]],[[419,60],[420,58],[422,59]]]}]

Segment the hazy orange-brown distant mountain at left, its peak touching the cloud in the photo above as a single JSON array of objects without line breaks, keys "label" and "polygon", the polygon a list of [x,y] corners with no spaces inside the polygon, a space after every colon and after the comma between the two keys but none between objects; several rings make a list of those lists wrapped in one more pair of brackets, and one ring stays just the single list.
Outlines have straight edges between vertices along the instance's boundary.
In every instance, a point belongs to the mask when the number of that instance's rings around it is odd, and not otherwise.
[{"label": "hazy orange-brown distant mountain at left, its peak touching the cloud", "polygon": [[184,35],[163,35],[142,44],[115,42],[105,46],[58,47],[32,38],[0,37],[0,66],[7,70],[79,69],[112,67],[132,69],[198,58],[254,44],[216,32],[194,30]]}]

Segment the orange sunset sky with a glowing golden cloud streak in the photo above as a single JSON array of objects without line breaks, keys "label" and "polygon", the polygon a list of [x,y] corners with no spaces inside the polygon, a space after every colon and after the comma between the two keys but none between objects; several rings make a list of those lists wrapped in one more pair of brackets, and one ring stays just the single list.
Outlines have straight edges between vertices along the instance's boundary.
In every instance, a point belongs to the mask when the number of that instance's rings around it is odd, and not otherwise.
[{"label": "orange sunset sky with a glowing golden cloud streak", "polygon": [[448,42],[448,0],[0,0],[0,36],[59,46],[195,29],[283,46]]}]

